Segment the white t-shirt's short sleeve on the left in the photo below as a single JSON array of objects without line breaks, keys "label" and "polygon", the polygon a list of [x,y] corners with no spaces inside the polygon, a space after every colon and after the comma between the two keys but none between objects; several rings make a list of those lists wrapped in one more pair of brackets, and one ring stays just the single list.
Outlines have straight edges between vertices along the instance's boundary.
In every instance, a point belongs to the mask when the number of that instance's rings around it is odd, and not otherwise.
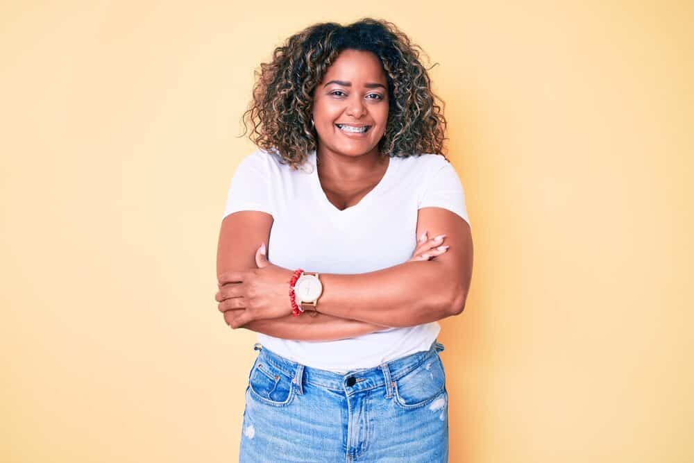
[{"label": "white t-shirt's short sleeve on the left", "polygon": [[231,178],[223,217],[239,210],[259,210],[273,217],[269,169],[262,153],[251,153],[239,162]]}]

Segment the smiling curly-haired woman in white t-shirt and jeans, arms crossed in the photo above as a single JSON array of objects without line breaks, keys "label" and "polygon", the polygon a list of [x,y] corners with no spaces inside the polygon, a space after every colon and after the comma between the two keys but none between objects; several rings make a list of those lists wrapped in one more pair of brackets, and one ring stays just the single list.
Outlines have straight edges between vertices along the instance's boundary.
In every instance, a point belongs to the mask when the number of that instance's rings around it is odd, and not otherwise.
[{"label": "smiling curly-haired woman in white t-shirt and jeans, arms crossed", "polygon": [[389,22],[315,24],[261,66],[215,296],[258,333],[242,462],[448,458],[437,320],[473,250],[417,48]]}]

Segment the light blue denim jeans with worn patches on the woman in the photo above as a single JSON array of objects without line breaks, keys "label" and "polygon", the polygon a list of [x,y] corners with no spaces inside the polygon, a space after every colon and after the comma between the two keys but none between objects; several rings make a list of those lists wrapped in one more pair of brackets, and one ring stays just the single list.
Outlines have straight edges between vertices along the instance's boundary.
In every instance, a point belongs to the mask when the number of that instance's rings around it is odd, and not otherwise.
[{"label": "light blue denim jeans with worn patches on the woman", "polygon": [[448,461],[443,344],[344,375],[254,348],[239,463]]}]

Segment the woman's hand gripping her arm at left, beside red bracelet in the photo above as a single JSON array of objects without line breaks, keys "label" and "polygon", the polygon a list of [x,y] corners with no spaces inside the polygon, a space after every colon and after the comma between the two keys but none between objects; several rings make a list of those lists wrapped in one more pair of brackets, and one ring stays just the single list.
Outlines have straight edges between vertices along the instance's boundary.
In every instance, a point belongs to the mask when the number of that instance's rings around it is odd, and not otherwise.
[{"label": "woman's hand gripping her arm at left, beside red bracelet", "polygon": [[294,271],[271,264],[264,243],[255,252],[255,263],[257,269],[230,271],[219,278],[214,299],[231,328],[291,314],[289,280]]}]

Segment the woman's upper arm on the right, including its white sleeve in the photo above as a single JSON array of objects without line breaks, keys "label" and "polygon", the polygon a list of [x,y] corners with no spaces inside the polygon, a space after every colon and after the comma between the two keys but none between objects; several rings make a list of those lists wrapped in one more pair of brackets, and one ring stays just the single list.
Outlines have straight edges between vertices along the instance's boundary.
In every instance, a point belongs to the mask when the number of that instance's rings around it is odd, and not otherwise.
[{"label": "woman's upper arm on the right, including its white sleeve", "polygon": [[432,158],[434,169],[423,182],[418,197],[416,236],[427,230],[430,238],[446,235],[448,250],[432,262],[441,265],[442,278],[450,279],[452,313],[462,312],[473,268],[473,242],[465,192],[455,169],[443,158]]}]

